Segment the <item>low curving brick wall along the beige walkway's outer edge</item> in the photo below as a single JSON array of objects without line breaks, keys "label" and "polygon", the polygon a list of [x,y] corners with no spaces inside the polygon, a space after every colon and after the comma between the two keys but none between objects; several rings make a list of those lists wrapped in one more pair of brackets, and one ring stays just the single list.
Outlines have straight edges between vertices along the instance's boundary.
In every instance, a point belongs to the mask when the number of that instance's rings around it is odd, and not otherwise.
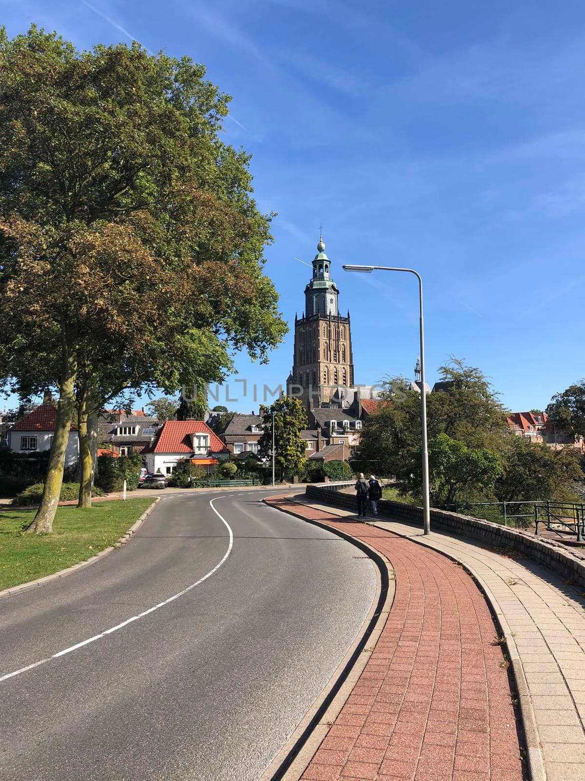
[{"label": "low curving brick wall along the beige walkway's outer edge", "polygon": [[[328,505],[357,512],[356,497],[343,493],[343,489],[350,485],[353,483],[309,485],[305,495],[307,499],[324,501]],[[421,507],[381,499],[378,502],[378,512],[397,521],[423,525]],[[562,543],[539,539],[534,532],[509,529],[499,523],[471,518],[469,515],[459,515],[457,512],[434,509],[431,509],[431,529],[447,532],[456,537],[471,537],[485,547],[512,547],[585,588],[585,555],[581,551],[573,553]]]}]

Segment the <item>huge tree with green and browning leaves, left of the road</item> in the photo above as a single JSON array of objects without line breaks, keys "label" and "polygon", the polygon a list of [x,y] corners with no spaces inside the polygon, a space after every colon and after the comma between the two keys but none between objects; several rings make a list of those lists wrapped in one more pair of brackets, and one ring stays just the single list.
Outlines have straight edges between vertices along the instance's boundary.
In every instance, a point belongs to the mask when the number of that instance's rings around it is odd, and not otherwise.
[{"label": "huge tree with green and browning leaves, left of the road", "polygon": [[58,389],[47,532],[76,405],[219,380],[229,350],[265,360],[285,324],[269,217],[204,66],[36,27],[0,31],[0,59],[0,370],[23,396]]}]

